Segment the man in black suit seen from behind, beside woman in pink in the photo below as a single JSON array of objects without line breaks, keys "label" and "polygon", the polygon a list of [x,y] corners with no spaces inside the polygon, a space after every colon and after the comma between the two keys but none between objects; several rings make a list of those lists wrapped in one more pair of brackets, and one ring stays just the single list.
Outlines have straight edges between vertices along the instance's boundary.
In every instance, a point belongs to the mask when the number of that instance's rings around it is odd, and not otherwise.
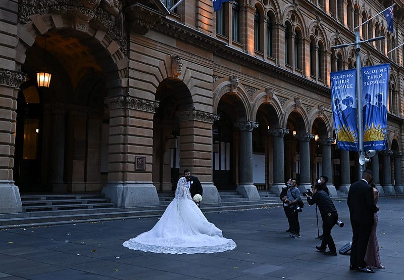
[{"label": "man in black suit seen from behind, beside woman in pink", "polygon": [[350,270],[374,273],[375,270],[366,267],[365,253],[374,223],[374,213],[379,208],[375,205],[372,181],[372,171],[366,169],[362,179],[351,184],[347,204],[350,224],[352,226],[352,245],[350,251]]}]

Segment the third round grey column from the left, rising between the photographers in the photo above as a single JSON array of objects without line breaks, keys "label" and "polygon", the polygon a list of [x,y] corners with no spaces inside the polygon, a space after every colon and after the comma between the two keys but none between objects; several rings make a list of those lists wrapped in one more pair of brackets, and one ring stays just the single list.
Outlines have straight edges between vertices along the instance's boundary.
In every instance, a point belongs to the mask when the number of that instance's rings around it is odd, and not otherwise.
[{"label": "third round grey column from the left, rising between the photographers", "polygon": [[300,149],[300,181],[298,182],[298,188],[300,192],[307,192],[306,189],[310,189],[312,183],[310,182],[310,139],[314,138],[311,133],[301,133],[296,135],[299,139]]}]

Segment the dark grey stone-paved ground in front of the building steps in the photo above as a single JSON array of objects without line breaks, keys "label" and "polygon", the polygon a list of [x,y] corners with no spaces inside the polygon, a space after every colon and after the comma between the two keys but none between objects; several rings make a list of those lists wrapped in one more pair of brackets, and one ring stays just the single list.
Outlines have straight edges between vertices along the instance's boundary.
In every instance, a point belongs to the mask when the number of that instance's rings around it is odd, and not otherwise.
[{"label": "dark grey stone-paved ground in front of the building steps", "polygon": [[[346,201],[335,201],[337,250],[352,236]],[[285,232],[281,207],[205,213],[233,239],[232,251],[171,255],[129,250],[122,243],[158,218],[89,222],[0,231],[1,279],[403,279],[404,197],[379,200],[378,239],[385,269],[349,271],[349,255],[317,252],[316,210],[299,214],[301,238]],[[321,217],[319,216],[321,225]],[[321,233],[321,226],[320,226]]]}]

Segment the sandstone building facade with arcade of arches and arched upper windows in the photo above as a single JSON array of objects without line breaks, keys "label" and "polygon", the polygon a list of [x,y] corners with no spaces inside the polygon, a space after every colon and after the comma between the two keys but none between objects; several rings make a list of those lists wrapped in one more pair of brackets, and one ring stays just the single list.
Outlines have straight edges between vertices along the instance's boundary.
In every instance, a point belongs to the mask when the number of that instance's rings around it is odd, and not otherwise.
[{"label": "sandstone building facade with arcade of arches and arched upper windows", "polygon": [[[24,192],[103,192],[118,207],[158,205],[188,168],[204,201],[250,200],[288,177],[331,192],[358,179],[339,151],[332,71],[390,63],[388,150],[368,164],[402,193],[404,2],[4,0],[0,4],[0,213]],[[173,8],[173,9],[172,9]],[[398,48],[397,48],[398,47]],[[52,74],[38,86],[38,71]],[[335,188],[333,188],[333,186]]]}]

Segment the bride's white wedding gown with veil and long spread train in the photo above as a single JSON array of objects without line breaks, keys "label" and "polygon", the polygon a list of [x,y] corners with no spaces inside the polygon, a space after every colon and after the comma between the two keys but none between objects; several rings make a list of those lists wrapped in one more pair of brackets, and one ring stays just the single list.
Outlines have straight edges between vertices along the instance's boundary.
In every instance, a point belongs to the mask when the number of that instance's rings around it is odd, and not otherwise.
[{"label": "bride's white wedding gown with veil and long spread train", "polygon": [[193,202],[185,177],[178,180],[175,198],[155,226],[122,245],[132,250],[166,254],[216,253],[236,247]]}]

